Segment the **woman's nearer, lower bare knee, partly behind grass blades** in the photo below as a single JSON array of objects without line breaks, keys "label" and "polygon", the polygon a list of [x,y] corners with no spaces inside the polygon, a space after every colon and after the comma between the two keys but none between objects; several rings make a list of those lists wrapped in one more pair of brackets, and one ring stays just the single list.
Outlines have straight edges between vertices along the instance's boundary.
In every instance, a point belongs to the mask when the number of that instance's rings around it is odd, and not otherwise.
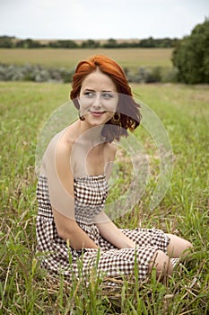
[{"label": "woman's nearer, lower bare knee, partly behind grass blades", "polygon": [[168,257],[162,250],[157,250],[149,266],[149,270],[152,268],[156,269],[157,278],[164,279],[168,275],[172,275],[173,266],[170,262],[170,257]]}]

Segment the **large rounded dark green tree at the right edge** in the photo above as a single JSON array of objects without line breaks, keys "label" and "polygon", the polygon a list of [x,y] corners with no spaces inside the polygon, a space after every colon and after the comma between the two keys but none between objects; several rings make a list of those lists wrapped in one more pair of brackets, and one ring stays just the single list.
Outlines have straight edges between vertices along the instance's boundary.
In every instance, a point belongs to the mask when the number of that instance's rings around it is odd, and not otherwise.
[{"label": "large rounded dark green tree at the right edge", "polygon": [[186,84],[209,83],[209,20],[198,24],[190,36],[179,40],[172,62],[178,81]]}]

